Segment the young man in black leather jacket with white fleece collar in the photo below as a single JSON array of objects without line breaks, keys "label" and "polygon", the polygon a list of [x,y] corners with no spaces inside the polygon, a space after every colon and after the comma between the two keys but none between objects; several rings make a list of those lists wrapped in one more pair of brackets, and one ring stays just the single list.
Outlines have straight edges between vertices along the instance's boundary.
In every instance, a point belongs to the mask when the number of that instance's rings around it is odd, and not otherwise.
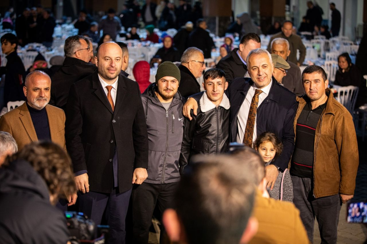
[{"label": "young man in black leather jacket with white fleece collar", "polygon": [[220,69],[209,69],[204,73],[205,92],[199,100],[197,116],[185,119],[181,147],[180,165],[185,166],[196,154],[226,152],[229,143],[229,99],[224,94],[228,87],[225,73]]}]

